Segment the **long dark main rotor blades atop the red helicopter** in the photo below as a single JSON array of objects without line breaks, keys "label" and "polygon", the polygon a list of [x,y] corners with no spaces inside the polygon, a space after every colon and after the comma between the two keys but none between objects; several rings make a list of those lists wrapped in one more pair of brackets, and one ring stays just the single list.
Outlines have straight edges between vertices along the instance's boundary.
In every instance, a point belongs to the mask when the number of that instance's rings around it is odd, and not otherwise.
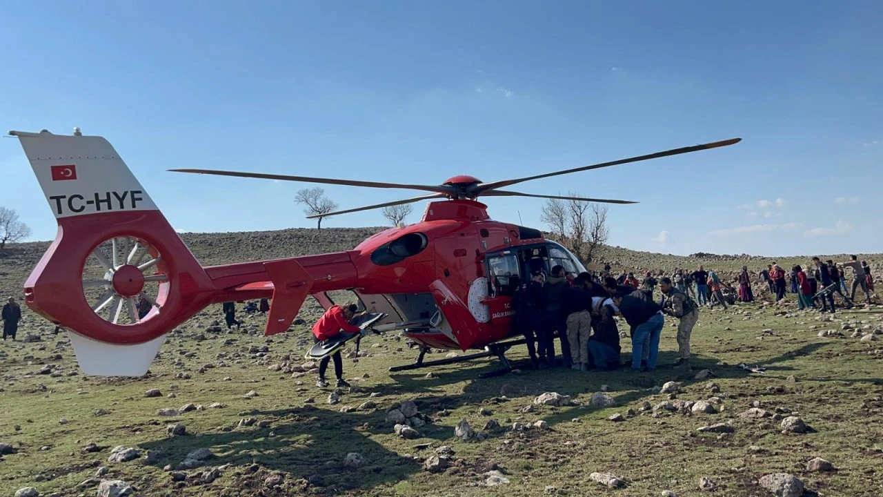
[{"label": "long dark main rotor blades atop the red helicopter", "polygon": [[476,199],[479,196],[522,196],[522,197],[532,197],[532,198],[552,198],[552,199],[562,199],[562,200],[576,200],[581,202],[597,202],[597,203],[620,203],[620,204],[628,204],[628,203],[637,203],[629,200],[612,200],[612,199],[597,199],[597,198],[587,198],[587,197],[577,197],[577,196],[562,196],[562,195],[538,195],[538,194],[525,194],[521,192],[512,192],[508,190],[500,190],[502,187],[509,187],[511,185],[516,185],[518,183],[524,183],[525,181],[531,180],[541,180],[544,178],[550,178],[553,176],[560,176],[562,174],[570,174],[573,172],[584,172],[591,171],[593,169],[600,169],[602,167],[609,167],[611,165],[619,165],[619,164],[630,164],[635,162],[641,162],[645,160],[660,158],[660,157],[671,157],[680,154],[687,154],[690,152],[697,152],[699,150],[707,150],[707,149],[717,149],[720,147],[727,147],[729,145],[733,145],[742,141],[741,138],[731,138],[729,140],[722,141],[712,141],[709,143],[702,143],[699,145],[692,145],[690,147],[682,147],[680,149],[670,149],[664,150],[661,152],[654,152],[653,154],[646,154],[643,156],[637,157],[628,157],[624,159],[619,159],[615,161],[602,162],[599,164],[590,164],[581,167],[575,167],[572,169],[565,169],[562,171],[555,172],[545,172],[543,174],[536,174],[533,176],[525,176],[524,178],[516,178],[512,180],[498,180],[492,182],[481,182],[472,176],[455,176],[450,180],[445,181],[442,185],[412,185],[412,184],[404,184],[404,183],[389,183],[389,182],[378,182],[378,181],[364,181],[364,180],[337,180],[332,178],[314,178],[309,176],[290,176],[285,174],[265,174],[260,172],[235,172],[235,171],[218,171],[218,170],[209,170],[209,169],[170,169],[172,172],[192,172],[196,174],[215,174],[219,176],[236,176],[240,178],[262,178],[268,180],[286,180],[286,181],[303,181],[307,183],[321,183],[328,185],[344,185],[351,187],[373,187],[373,188],[404,188],[404,189],[412,189],[412,190],[422,190],[428,192],[434,192],[432,195],[422,195],[417,197],[412,197],[404,200],[398,200],[394,202],[387,203],[375,203],[374,205],[366,205],[364,207],[356,207],[353,209],[346,210],[338,210],[336,212],[329,212],[327,214],[316,214],[307,216],[307,218],[327,218],[329,216],[336,216],[338,214],[349,214],[351,212],[358,212],[361,210],[372,210],[372,209],[381,209],[384,207],[390,207],[393,205],[401,205],[404,203],[414,203],[419,202],[421,200],[430,200],[434,198],[450,198],[450,199]]}]

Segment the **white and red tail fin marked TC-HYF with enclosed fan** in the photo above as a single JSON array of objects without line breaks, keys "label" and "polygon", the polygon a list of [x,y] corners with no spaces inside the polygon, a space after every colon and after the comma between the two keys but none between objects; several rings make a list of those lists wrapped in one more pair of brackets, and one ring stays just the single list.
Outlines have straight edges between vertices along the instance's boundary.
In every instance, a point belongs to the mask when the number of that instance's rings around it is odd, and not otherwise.
[{"label": "white and red tail fin marked TC-HYF with enclosed fan", "polygon": [[10,134],[58,224],[26,305],[70,332],[87,374],[143,375],[166,334],[211,302],[212,280],[109,141]]}]

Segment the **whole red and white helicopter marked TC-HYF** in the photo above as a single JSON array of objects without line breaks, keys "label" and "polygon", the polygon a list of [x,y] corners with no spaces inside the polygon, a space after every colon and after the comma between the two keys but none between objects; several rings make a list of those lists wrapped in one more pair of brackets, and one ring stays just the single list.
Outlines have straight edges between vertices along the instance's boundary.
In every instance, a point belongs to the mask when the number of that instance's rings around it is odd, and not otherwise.
[{"label": "whole red and white helicopter marked TC-HYF", "polygon": [[[358,298],[363,325],[375,333],[401,330],[419,347],[414,363],[389,371],[494,356],[501,361],[502,372],[511,371],[505,354],[525,343],[513,326],[512,297],[517,281],[533,267],[529,264],[541,264],[547,272],[562,265],[573,274],[585,267],[567,248],[545,239],[540,230],[490,218],[487,204],[479,202],[479,197],[635,203],[503,188],[741,141],[714,141],[510,180],[484,182],[458,175],[440,185],[172,169],[427,192],[321,214],[328,217],[429,201],[418,223],[376,233],[351,250],[203,267],[107,139],[84,135],[79,128],[72,135],[45,129],[9,134],[19,139],[58,224],[56,239],[26,279],[24,302],[68,333],[82,371],[135,377],[147,372],[169,333],[209,305],[271,299],[263,331],[269,336],[290,330],[308,296],[327,310],[341,303],[331,296],[340,290]],[[90,260],[101,269],[89,271]],[[362,334],[345,334],[343,339],[355,335]],[[425,361],[430,349],[472,353]],[[327,353],[328,349],[317,352]]]}]

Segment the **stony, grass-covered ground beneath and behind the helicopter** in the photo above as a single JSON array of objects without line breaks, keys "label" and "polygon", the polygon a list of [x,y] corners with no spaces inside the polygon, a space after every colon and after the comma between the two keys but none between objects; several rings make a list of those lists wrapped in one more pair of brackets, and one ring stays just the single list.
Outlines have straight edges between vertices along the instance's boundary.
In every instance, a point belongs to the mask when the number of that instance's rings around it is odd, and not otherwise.
[{"label": "stony, grass-covered ground beneath and behind the helicopter", "polygon": [[[321,231],[185,241],[220,264],[351,248],[373,230]],[[45,247],[0,259],[0,291],[19,294]],[[883,494],[880,307],[703,310],[693,371],[668,367],[670,323],[650,373],[478,379],[489,360],[389,373],[415,351],[397,333],[369,336],[361,356],[345,352],[344,389],[316,387],[304,359],[319,313],[308,305],[304,325],[263,337],[264,317],[240,312],[228,332],[217,306],[171,333],[145,378],[97,378],[26,311],[19,339],[35,341],[0,345],[0,494]],[[623,360],[629,349],[624,338]]]}]

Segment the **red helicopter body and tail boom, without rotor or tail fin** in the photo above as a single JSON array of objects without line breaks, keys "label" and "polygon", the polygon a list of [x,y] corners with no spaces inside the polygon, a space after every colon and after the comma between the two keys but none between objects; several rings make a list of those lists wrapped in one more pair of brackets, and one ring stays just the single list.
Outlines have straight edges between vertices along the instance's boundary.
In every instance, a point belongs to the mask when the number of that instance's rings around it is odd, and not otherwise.
[{"label": "red helicopter body and tail boom, without rotor or tail fin", "polygon": [[[555,264],[585,271],[539,230],[494,221],[483,203],[447,200],[429,203],[419,223],[376,233],[352,250],[291,261],[309,274],[314,282],[310,294],[326,309],[343,303],[328,293],[351,290],[360,309],[387,314],[375,328],[401,328],[429,348],[467,350],[514,333],[512,294],[534,257],[547,271]],[[205,270],[224,290],[214,302],[274,296],[261,262]],[[269,320],[268,334],[283,332],[287,325],[282,328]]]}]

